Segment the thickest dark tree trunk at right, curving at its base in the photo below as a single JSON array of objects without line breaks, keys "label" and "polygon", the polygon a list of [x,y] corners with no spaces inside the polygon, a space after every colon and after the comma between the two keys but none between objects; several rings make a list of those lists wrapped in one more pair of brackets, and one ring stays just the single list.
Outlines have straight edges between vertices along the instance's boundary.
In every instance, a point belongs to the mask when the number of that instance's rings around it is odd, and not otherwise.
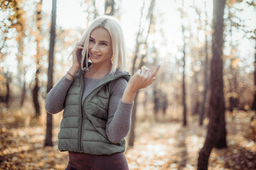
[{"label": "thickest dark tree trunk at right, curving at its base", "polygon": [[213,59],[210,69],[210,108],[206,141],[199,152],[198,169],[208,169],[213,147],[227,147],[225,131],[225,101],[223,94],[223,13],[225,0],[213,1]]}]

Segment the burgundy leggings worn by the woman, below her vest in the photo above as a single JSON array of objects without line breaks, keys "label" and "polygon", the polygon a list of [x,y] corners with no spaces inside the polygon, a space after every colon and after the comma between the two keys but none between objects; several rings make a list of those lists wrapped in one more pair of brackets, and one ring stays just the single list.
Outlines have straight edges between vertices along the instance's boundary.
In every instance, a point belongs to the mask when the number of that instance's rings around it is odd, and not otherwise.
[{"label": "burgundy leggings worn by the woman, below her vest", "polygon": [[65,170],[129,170],[124,153],[90,155],[68,152],[69,162]]}]

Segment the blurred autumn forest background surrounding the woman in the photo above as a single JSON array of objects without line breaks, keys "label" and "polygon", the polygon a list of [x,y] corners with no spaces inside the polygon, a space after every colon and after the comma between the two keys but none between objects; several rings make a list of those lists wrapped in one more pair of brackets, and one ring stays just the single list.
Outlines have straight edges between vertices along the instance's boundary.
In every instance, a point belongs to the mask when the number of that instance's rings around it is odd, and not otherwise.
[{"label": "blurred autumn forest background surrounding the woman", "polygon": [[130,74],[161,64],[135,98],[129,169],[256,169],[255,0],[0,1],[0,169],[67,166],[45,98],[103,14],[124,28]]}]

